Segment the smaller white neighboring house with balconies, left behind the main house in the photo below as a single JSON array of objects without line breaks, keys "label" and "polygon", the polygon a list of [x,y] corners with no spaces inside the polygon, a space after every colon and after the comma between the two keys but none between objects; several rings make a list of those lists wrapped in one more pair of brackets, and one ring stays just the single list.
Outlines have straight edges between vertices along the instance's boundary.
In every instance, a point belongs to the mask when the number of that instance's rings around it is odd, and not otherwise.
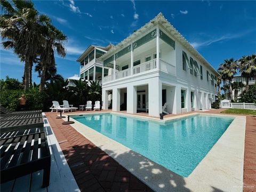
[{"label": "smaller white neighboring house with balconies, left behind the main house", "polygon": [[[105,54],[113,47],[109,44],[106,47],[90,45],[85,52],[76,60],[80,62],[80,77],[87,81],[100,81],[102,80],[102,63],[98,58]],[[105,68],[104,74],[108,75],[108,68]]]}]

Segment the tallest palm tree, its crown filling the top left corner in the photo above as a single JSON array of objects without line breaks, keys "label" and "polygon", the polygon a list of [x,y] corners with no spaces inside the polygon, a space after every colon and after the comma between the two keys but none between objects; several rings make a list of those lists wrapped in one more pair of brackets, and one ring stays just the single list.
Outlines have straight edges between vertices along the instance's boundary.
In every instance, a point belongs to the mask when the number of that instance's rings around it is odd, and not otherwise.
[{"label": "tallest palm tree, its crown filling the top left corner", "polygon": [[29,67],[42,42],[41,26],[50,21],[46,15],[38,14],[31,1],[1,0],[0,16],[1,36],[5,49],[14,49],[14,52],[25,57],[24,89],[29,89]]}]

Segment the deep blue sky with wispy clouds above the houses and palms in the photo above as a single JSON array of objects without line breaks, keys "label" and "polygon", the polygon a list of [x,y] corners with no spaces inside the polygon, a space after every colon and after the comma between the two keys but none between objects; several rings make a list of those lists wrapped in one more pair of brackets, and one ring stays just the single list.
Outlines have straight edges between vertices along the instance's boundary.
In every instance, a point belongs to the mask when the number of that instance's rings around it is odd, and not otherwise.
[{"label": "deep blue sky with wispy clouds above the houses and palms", "polygon": [[[117,44],[159,12],[218,68],[224,59],[256,52],[256,1],[34,1],[68,36],[67,56],[55,57],[58,74],[79,74],[76,59],[93,45]],[[1,47],[1,78],[21,79],[24,64]],[[33,81],[39,83],[37,73]]]}]

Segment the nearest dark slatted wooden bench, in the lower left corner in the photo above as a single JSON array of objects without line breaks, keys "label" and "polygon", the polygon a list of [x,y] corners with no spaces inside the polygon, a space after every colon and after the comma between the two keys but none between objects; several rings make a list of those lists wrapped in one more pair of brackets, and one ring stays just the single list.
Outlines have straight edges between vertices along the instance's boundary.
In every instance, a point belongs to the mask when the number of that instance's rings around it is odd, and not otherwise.
[{"label": "nearest dark slatted wooden bench, in the lower left corner", "polygon": [[4,138],[0,143],[1,183],[43,170],[43,187],[49,186],[51,155],[45,132]]}]

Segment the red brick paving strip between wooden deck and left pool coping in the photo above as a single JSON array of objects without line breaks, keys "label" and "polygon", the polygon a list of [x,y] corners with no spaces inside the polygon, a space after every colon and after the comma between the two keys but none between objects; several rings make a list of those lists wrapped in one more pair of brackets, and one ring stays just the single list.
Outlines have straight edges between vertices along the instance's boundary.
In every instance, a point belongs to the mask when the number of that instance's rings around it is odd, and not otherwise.
[{"label": "red brick paving strip between wooden deck and left pool coping", "polygon": [[153,191],[56,115],[46,113],[81,191]]}]

